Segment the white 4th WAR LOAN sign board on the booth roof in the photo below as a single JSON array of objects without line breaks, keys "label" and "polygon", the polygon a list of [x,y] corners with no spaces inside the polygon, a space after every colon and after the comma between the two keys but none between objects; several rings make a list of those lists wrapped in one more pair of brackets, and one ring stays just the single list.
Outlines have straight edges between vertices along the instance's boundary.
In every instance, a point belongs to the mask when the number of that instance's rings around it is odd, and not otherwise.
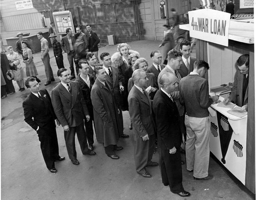
[{"label": "white 4th WAR LOAN sign board on the booth roof", "polygon": [[212,9],[188,12],[190,37],[228,46],[230,13]]}]

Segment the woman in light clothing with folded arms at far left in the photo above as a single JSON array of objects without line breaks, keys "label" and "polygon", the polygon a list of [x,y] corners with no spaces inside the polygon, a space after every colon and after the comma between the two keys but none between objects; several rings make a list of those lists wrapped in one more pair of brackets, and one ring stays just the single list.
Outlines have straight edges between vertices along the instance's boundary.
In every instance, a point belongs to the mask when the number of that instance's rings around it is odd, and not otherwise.
[{"label": "woman in light clothing with folded arms at far left", "polygon": [[7,58],[9,60],[10,69],[12,70],[12,73],[14,74],[14,81],[17,82],[17,85],[19,87],[19,91],[24,91],[24,75],[23,75],[23,69],[20,65],[20,58],[18,53],[13,51],[12,46],[8,46],[7,50],[9,51],[9,54],[7,55]]}]

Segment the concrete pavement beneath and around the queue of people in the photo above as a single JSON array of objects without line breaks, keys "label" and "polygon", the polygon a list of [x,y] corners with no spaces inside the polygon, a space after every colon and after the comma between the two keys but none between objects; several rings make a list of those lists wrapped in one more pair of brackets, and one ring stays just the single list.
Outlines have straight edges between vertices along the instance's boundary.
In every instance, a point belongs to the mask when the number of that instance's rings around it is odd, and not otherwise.
[{"label": "concrete pavement beneath and around the queue of people", "polygon": [[[160,41],[129,42],[131,49],[138,51],[141,57],[148,60],[153,49],[158,49]],[[99,54],[117,50],[116,45],[100,48]],[[63,54],[65,67],[69,68],[67,55]],[[40,88],[47,88],[51,94],[52,89],[59,83],[56,76],[57,66],[50,49],[51,65],[55,82],[44,86],[46,75],[40,54],[34,54],[34,61],[42,84]],[[13,82],[14,83],[14,82]],[[119,160],[112,160],[104,153],[104,148],[95,139],[96,156],[82,155],[77,144],[77,159],[80,165],[75,166],[68,158],[62,127],[57,127],[59,154],[66,160],[56,162],[57,173],[51,173],[45,165],[40,151],[37,134],[24,121],[22,102],[29,94],[26,89],[8,95],[1,101],[1,152],[2,152],[2,199],[86,199],[86,200],[119,200],[119,199],[252,199],[241,190],[223,171],[223,169],[210,158],[209,173],[214,175],[210,181],[193,179],[193,173],[183,169],[183,186],[191,193],[190,197],[182,198],[163,186],[159,167],[148,167],[153,177],[145,179],[135,171],[133,157],[133,133],[129,130],[129,113],[123,112],[124,133],[130,138],[119,140],[118,145],[123,150],[117,152]],[[182,155],[182,160],[184,155]],[[153,161],[158,161],[158,153],[154,154]]]}]

